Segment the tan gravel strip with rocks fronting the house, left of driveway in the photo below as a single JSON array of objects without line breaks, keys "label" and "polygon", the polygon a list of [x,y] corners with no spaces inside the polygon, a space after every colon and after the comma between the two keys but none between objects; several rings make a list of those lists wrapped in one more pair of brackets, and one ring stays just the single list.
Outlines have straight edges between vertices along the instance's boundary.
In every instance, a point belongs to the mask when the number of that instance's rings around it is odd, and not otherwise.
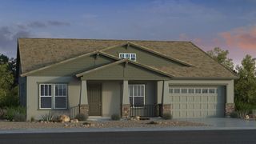
[{"label": "tan gravel strip with rocks fronting the house, left of driveway", "polygon": [[[151,124],[150,124],[151,123]],[[43,128],[126,128],[126,127],[172,127],[172,126],[209,126],[198,122],[174,120],[121,120],[85,122],[6,122],[0,121],[0,130],[43,129]]]}]

